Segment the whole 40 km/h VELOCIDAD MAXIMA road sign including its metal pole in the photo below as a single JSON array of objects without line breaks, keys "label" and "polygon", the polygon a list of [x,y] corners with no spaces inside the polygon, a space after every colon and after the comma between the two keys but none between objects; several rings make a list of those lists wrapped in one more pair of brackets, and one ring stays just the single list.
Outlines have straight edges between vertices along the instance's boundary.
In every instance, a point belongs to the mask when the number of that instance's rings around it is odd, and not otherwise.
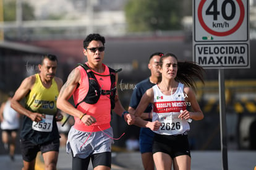
[{"label": "whole 40 km/h VELOCIDAD MAXIMA road sign including its metal pole", "polygon": [[224,69],[250,68],[249,1],[193,1],[193,59],[219,69],[221,152],[228,169]]}]

